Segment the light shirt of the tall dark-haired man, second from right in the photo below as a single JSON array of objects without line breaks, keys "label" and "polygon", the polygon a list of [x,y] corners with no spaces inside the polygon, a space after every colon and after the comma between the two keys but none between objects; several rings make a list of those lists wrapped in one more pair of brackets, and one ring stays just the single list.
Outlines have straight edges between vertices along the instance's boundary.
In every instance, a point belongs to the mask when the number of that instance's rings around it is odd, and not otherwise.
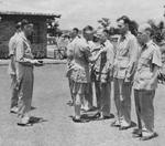
[{"label": "light shirt of the tall dark-haired man, second from right", "polygon": [[120,38],[117,44],[113,64],[113,77],[131,77],[133,64],[138,60],[139,45],[136,38],[129,31],[124,38]]}]

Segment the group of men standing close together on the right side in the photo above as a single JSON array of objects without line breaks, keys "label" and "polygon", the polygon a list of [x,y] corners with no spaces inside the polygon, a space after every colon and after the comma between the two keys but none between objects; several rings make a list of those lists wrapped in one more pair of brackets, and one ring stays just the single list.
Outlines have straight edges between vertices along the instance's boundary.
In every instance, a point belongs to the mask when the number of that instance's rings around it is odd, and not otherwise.
[{"label": "group of men standing close together on the right side", "polygon": [[74,39],[67,46],[67,77],[75,109],[73,121],[86,122],[80,115],[80,108],[87,104],[89,107],[92,106],[92,83],[98,103],[98,113],[95,117],[110,118],[111,81],[113,81],[117,116],[111,125],[120,129],[131,127],[133,88],[138,128],[132,134],[133,137],[146,140],[156,136],[153,100],[162,66],[161,51],[152,41],[150,24],[140,25],[135,36],[130,32],[131,20],[128,17],[121,17],[117,21],[120,38],[116,49],[108,40],[106,30],[94,33],[92,27],[87,25],[82,30],[81,38],[77,36],[77,29],[73,30]]}]

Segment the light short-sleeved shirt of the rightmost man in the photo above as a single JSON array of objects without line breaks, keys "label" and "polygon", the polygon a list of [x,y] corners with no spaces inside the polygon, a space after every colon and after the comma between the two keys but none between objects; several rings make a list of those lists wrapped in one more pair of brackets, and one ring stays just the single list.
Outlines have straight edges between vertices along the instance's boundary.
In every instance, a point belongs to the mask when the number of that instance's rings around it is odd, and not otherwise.
[{"label": "light short-sleeved shirt of the rightmost man", "polygon": [[134,75],[133,87],[135,90],[155,90],[157,87],[157,79],[151,86],[148,83],[153,76],[154,65],[162,66],[160,48],[150,41],[141,51],[138,62],[136,73]]}]

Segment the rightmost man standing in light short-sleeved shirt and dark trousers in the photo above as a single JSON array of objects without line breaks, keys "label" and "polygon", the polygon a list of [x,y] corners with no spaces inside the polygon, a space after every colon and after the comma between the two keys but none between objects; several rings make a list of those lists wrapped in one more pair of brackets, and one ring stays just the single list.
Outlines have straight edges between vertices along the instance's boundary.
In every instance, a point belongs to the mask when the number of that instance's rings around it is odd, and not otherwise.
[{"label": "rightmost man standing in light short-sleeved shirt and dark trousers", "polygon": [[152,41],[151,34],[150,24],[140,25],[138,40],[142,49],[133,84],[139,128],[133,132],[133,136],[141,137],[142,140],[156,136],[153,100],[162,61],[160,48]]}]

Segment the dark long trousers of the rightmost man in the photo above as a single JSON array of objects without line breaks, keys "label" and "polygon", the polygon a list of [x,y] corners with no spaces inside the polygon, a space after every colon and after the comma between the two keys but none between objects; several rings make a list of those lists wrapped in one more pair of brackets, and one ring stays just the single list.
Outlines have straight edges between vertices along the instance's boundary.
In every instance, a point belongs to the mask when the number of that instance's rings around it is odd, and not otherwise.
[{"label": "dark long trousers of the rightmost man", "polygon": [[154,131],[154,96],[155,90],[134,90],[135,111],[140,129]]}]

